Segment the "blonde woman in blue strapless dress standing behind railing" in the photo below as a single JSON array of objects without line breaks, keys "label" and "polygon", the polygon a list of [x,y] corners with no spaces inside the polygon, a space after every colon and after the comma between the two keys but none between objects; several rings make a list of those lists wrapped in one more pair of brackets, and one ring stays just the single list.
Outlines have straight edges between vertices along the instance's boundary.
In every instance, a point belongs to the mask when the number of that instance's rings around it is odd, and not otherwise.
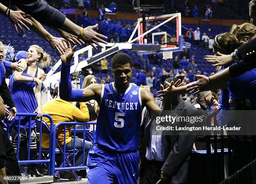
[{"label": "blonde woman in blue strapless dress standing behind railing", "polygon": [[[36,118],[31,121],[31,135],[29,134],[29,118],[20,117],[20,142],[31,140],[30,160],[38,159],[36,145],[36,119],[43,114],[41,111],[41,87],[44,80],[44,71],[38,68],[49,66],[50,57],[38,45],[31,45],[28,49],[26,59],[21,59],[20,65],[23,67],[21,72],[15,71],[10,78],[10,93],[19,113],[38,113]],[[18,117],[10,122],[10,135],[12,144],[17,149],[18,144]],[[31,176],[43,176],[34,164],[30,165]]]}]

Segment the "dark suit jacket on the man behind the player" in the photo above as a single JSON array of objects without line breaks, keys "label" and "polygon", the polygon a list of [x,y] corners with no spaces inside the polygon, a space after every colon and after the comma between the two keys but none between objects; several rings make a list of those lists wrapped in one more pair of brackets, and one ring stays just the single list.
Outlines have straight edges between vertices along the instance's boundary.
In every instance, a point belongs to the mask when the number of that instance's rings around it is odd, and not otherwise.
[{"label": "dark suit jacket on the man behind the player", "polygon": [[[159,106],[161,101],[156,102]],[[161,107],[161,106],[160,106]],[[190,103],[187,103],[180,99],[178,105],[172,110],[172,114],[177,116],[196,116],[197,109]],[[146,149],[149,142],[150,129],[152,121],[150,113],[145,112],[143,122],[141,124],[141,136],[140,136],[140,158],[143,167],[143,161],[146,159]],[[171,179],[170,184],[173,183],[186,183],[187,171],[189,166],[189,153],[195,142],[196,136],[189,135],[163,135],[162,141],[164,146],[164,165],[161,170],[167,173]],[[142,168],[143,169],[143,168]]]}]

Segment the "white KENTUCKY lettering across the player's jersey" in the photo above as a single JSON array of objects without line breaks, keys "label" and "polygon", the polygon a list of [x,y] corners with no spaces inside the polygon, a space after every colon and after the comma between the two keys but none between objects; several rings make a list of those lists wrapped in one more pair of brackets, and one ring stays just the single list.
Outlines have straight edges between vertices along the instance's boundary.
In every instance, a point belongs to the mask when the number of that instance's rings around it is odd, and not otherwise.
[{"label": "white KENTUCKY lettering across the player's jersey", "polygon": [[123,103],[123,102],[117,102],[105,99],[105,106],[110,108],[117,108],[122,110],[137,110],[138,109],[138,102],[129,102],[129,103]]}]

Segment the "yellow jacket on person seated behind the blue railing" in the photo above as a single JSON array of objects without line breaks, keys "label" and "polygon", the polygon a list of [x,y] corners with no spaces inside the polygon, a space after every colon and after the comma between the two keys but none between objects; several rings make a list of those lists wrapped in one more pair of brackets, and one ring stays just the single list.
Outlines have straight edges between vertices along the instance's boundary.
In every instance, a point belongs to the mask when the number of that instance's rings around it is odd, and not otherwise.
[{"label": "yellow jacket on person seated behind the blue railing", "polygon": [[[63,121],[89,121],[89,111],[84,102],[80,102],[80,109],[74,106],[72,103],[61,100],[60,98],[55,98],[48,101],[42,107],[42,112],[49,114],[53,119],[54,125]],[[50,126],[50,121],[48,118],[43,117],[43,120]],[[71,127],[66,128],[66,144],[72,140],[71,137]],[[64,126],[59,126],[56,131],[56,137],[61,145],[64,145]],[[41,145],[43,148],[49,148],[50,135],[42,133]]]}]

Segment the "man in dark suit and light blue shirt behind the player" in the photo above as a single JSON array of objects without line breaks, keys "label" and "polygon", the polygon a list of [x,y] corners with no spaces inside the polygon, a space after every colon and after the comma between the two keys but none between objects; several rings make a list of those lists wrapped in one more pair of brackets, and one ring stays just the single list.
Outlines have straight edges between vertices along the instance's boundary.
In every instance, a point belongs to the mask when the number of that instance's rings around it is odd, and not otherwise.
[{"label": "man in dark suit and light blue shirt behind the player", "polygon": [[[167,82],[178,81],[177,78],[167,78]],[[166,88],[165,84],[165,88]],[[160,108],[164,103],[172,107],[171,114],[177,116],[197,116],[197,109],[190,103],[175,96],[171,100],[157,101]],[[151,121],[151,114],[145,111],[141,124],[140,138],[140,184],[156,184],[159,179],[166,178],[166,184],[187,183],[189,166],[189,153],[196,136],[191,135],[165,135],[164,131],[152,135],[156,125]]]}]

